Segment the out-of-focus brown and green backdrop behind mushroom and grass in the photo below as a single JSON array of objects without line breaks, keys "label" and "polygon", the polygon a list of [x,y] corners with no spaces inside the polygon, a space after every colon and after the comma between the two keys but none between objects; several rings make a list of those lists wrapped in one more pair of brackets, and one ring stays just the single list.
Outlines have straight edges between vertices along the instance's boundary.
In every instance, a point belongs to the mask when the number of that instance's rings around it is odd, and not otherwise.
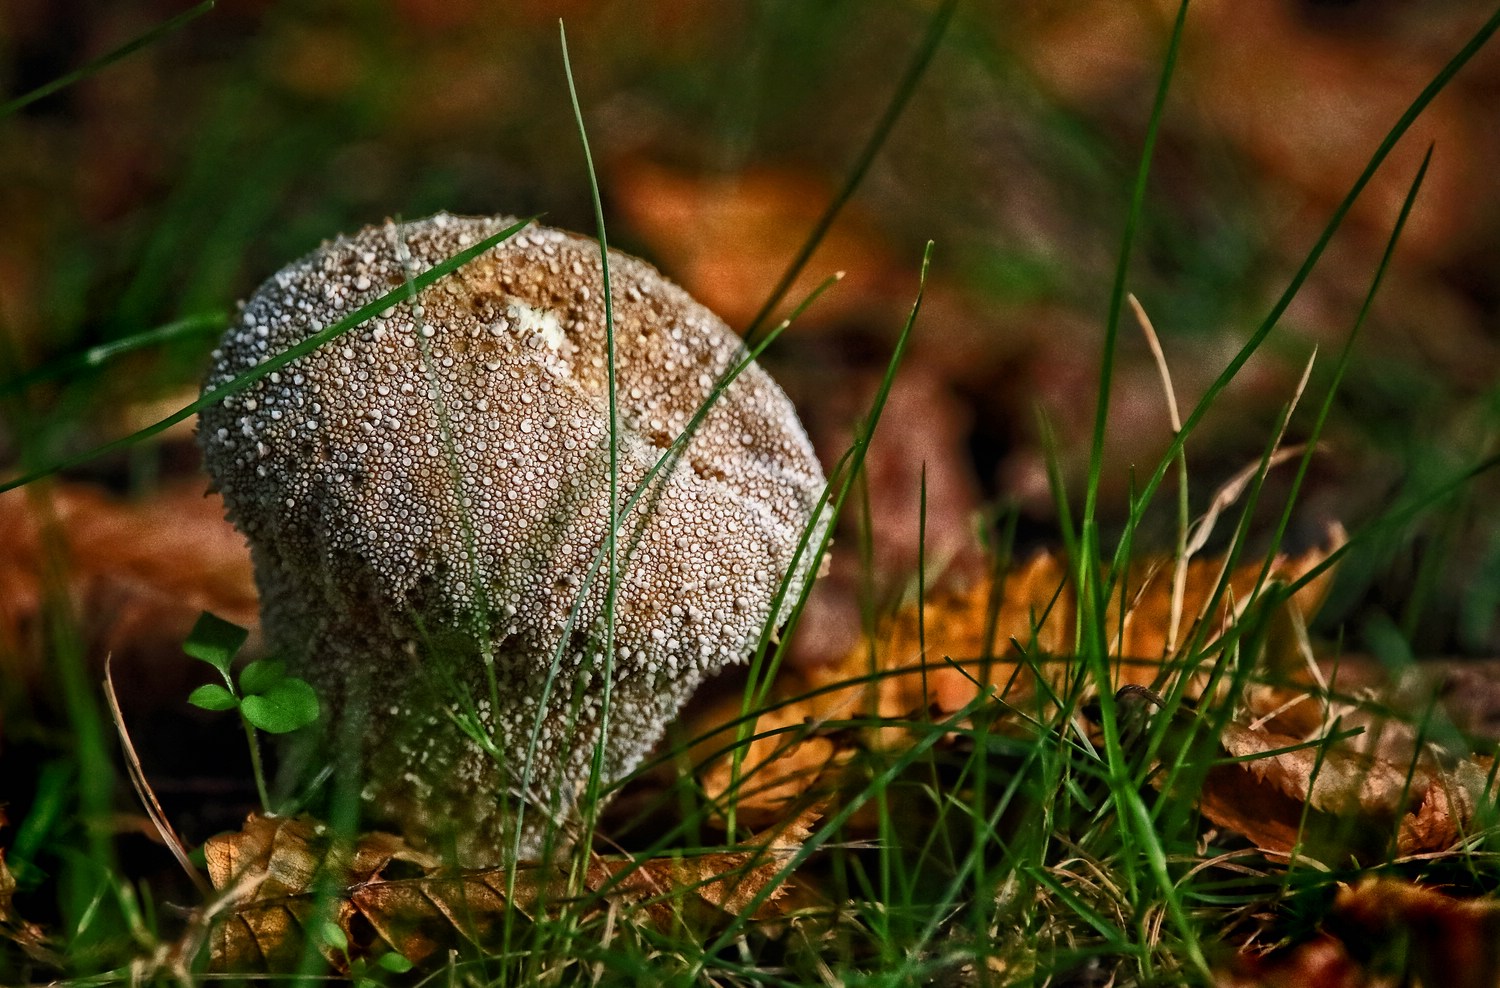
[{"label": "out-of-focus brown and green backdrop behind mushroom and grass", "polygon": [[[24,93],[184,9],[3,0],[0,87]],[[542,213],[591,231],[560,18],[612,244],[742,330],[846,181],[936,12],[928,0],[222,0],[0,121],[3,376],[180,319],[206,327],[8,394],[0,469],[54,462],[192,400],[234,301],[336,232],[436,210]],[[868,463],[868,565],[855,511],[801,661],[849,648],[861,585],[876,606],[909,586],[924,468],[933,571],[1006,519],[1017,553],[1059,544],[1040,423],[1076,513],[1113,268],[1174,13],[1161,0],[962,3],[792,289],[795,301],[846,273],[766,357],[832,465],[879,384],[924,244],[936,244]],[[1128,280],[1184,411],[1269,312],[1390,124],[1488,13],[1458,0],[1192,7]],[[1196,511],[1258,460],[1317,348],[1288,441],[1311,429],[1430,145],[1431,171],[1286,547],[1322,541],[1335,520],[1358,531],[1494,451],[1497,106],[1491,48],[1374,177],[1188,442]],[[1118,529],[1131,484],[1170,438],[1158,372],[1126,316],[1102,474],[1108,525]],[[1269,546],[1292,472],[1268,484],[1252,544]],[[1172,483],[1142,550],[1172,546]],[[86,664],[112,651],[135,705],[182,706],[198,670],[177,672],[188,666],[177,646],[198,610],[254,622],[243,547],[204,487],[183,424],[69,471],[51,499],[0,498],[0,544],[12,546],[0,553],[0,700],[12,724],[64,705],[50,658],[58,625],[46,619],[58,594],[76,619],[74,648]],[[1496,493],[1480,478],[1354,553],[1324,634],[1395,658],[1494,655]]]}]

